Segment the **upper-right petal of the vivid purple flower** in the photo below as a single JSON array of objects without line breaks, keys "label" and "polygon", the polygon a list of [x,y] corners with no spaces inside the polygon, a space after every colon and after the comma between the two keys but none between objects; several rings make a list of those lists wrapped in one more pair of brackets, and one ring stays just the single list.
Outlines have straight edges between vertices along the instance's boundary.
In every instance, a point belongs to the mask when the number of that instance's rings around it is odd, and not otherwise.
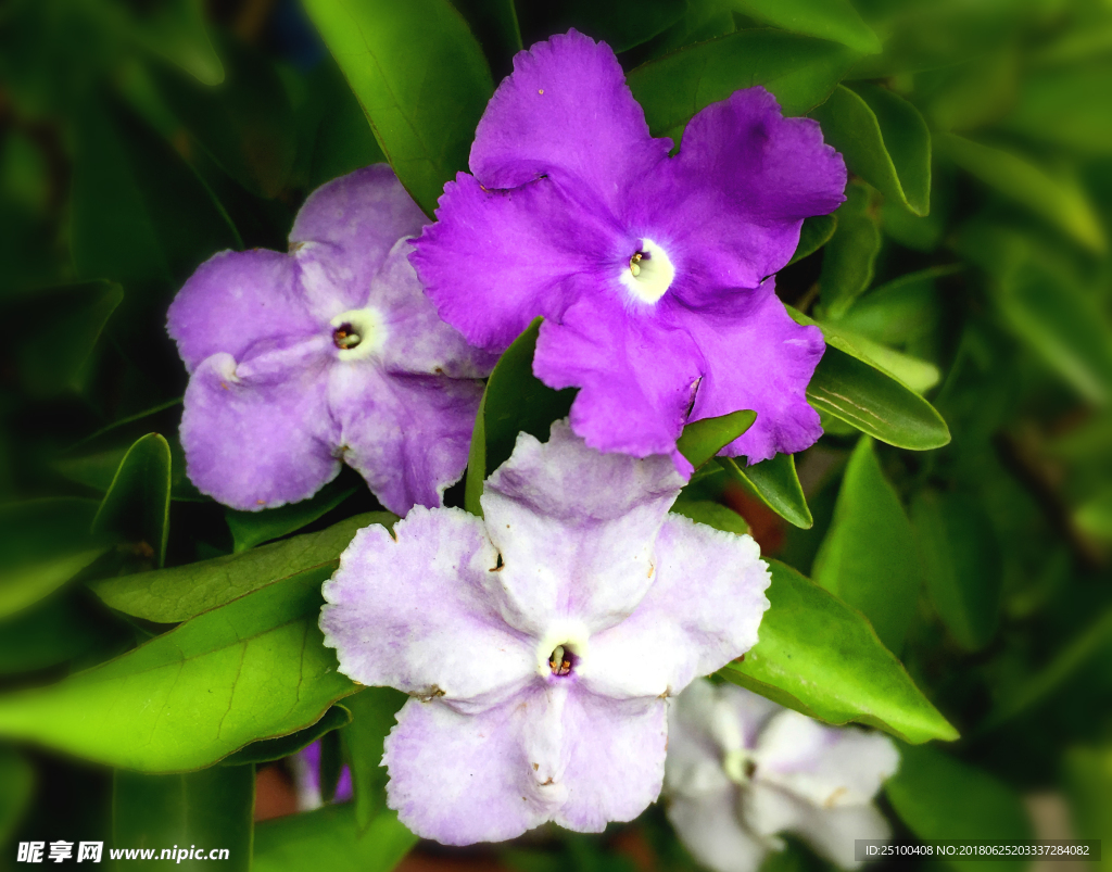
[{"label": "upper-right petal of the vivid purple flower", "polygon": [[632,189],[631,215],[666,228],[657,241],[685,252],[676,293],[713,307],[786,265],[803,219],[834,211],[845,182],[816,121],[784,118],[775,97],[748,88],[692,118],[679,153]]}]

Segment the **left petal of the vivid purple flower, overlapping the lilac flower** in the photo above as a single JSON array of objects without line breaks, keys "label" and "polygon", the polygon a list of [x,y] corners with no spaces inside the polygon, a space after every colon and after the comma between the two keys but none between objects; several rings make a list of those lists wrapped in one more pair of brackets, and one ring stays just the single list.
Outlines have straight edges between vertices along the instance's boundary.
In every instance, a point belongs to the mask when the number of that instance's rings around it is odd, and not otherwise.
[{"label": "left petal of the vivid purple flower, overlapping the lilac flower", "polygon": [[[559,317],[607,262],[617,235],[553,179],[488,190],[459,174],[410,261],[440,317],[471,345],[505,350],[538,315]],[[612,258],[610,258],[612,259]]]}]

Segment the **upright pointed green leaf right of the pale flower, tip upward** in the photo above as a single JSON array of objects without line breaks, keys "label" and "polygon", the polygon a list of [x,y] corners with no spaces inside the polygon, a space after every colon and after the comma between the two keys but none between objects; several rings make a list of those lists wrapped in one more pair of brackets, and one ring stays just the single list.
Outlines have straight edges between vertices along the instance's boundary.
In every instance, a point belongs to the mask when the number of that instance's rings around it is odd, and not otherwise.
[{"label": "upright pointed green leaf right of the pale flower, tip upward", "polygon": [[834,521],[815,557],[814,576],[860,608],[884,645],[900,653],[923,576],[911,522],[867,436],[861,437],[850,457]]}]

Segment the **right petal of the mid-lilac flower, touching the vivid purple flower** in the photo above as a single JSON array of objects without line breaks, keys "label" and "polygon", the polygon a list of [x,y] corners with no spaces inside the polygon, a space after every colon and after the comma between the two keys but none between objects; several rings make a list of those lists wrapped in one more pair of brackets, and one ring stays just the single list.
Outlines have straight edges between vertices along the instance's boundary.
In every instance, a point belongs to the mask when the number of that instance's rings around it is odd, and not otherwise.
[{"label": "right petal of the mid-lilac flower, touching the vivid purple flower", "polygon": [[467,344],[440,320],[409,262],[413,244],[399,239],[370,283],[366,305],[383,313],[386,337],[379,351],[391,374],[485,378],[498,358]]}]

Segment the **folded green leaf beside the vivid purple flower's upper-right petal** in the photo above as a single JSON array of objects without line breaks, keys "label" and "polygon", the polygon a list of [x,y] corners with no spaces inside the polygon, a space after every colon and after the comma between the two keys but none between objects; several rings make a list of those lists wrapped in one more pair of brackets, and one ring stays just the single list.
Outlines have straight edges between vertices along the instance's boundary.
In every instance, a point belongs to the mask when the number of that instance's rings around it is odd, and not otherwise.
[{"label": "folded green leaf beside the vivid purple flower's upper-right petal", "polygon": [[931,210],[931,131],[919,111],[886,88],[838,86],[811,117],[851,172],[919,216]]}]

